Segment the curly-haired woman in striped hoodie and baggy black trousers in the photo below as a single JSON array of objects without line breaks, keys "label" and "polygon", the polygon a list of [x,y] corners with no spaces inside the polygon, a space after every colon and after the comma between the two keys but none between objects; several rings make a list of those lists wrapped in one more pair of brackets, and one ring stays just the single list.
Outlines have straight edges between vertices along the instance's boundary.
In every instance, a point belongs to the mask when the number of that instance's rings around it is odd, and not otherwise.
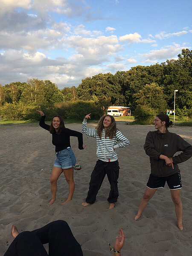
[{"label": "curly-haired woman in striped hoodie and baggy black trousers", "polygon": [[108,197],[108,202],[110,203],[109,209],[112,209],[119,196],[117,187],[119,163],[115,149],[124,148],[130,143],[128,139],[117,130],[116,122],[113,116],[102,116],[95,129],[87,128],[87,119],[90,119],[90,114],[84,117],[82,123],[82,133],[96,138],[96,154],[98,160],[91,174],[86,202],[82,203],[82,205],[87,206],[96,201],[96,195],[102,185],[105,175],[107,174],[109,183],[111,185],[111,190]]}]

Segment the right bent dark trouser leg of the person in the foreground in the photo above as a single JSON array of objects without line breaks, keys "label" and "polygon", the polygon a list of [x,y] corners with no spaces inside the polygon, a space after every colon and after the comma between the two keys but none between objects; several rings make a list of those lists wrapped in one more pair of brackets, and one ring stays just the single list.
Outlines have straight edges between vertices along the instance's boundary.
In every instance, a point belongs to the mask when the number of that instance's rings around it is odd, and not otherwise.
[{"label": "right bent dark trouser leg of the person in the foreground", "polygon": [[42,244],[49,243],[49,256],[83,256],[66,221],[53,221],[32,232]]}]

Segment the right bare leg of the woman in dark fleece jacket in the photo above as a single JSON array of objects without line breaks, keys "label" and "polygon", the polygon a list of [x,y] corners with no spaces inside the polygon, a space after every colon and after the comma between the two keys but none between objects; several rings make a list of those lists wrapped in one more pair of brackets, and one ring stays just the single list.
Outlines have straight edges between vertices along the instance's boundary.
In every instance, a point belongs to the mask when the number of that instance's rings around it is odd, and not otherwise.
[{"label": "right bare leg of the woman in dark fleece jacket", "polygon": [[175,204],[175,213],[177,216],[177,227],[183,230],[183,205],[180,198],[180,189],[171,190],[172,201]]}]

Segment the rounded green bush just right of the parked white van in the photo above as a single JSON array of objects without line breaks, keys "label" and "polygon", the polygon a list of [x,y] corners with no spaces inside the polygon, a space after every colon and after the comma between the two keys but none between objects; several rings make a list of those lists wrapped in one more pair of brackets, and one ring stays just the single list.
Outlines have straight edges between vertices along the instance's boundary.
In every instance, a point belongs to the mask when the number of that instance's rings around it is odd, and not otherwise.
[{"label": "rounded green bush just right of the parked white van", "polygon": [[148,106],[137,105],[134,111],[135,121],[132,124],[151,125],[156,113],[153,108]]}]

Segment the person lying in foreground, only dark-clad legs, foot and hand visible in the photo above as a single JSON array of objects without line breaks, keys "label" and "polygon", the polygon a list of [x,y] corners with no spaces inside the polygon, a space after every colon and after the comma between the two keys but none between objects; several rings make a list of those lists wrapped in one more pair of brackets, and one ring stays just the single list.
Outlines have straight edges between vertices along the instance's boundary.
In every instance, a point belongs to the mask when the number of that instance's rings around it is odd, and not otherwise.
[{"label": "person lying in foreground, only dark-clad legs, foot and hand visible", "polygon": [[[4,256],[48,256],[43,244],[49,243],[49,256],[83,256],[81,245],[73,236],[66,221],[53,221],[33,231],[19,233],[15,224],[11,232],[14,241],[10,244]],[[113,256],[121,256],[125,235],[122,229],[116,237],[114,247],[110,246]]]}]

